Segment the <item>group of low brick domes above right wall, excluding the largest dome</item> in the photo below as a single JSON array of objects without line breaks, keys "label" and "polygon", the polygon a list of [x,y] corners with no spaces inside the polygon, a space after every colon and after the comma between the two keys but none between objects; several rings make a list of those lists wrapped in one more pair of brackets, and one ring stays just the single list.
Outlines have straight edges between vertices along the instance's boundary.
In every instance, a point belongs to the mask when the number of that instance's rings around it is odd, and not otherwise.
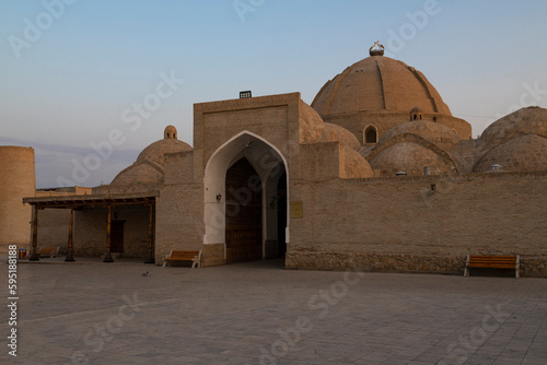
[{"label": "group of low brick domes above right wall, excluding the largest dome", "polygon": [[410,121],[360,153],[375,176],[423,175],[426,166],[433,175],[547,170],[547,109],[520,109],[493,122],[475,141],[463,141],[435,122]]}]

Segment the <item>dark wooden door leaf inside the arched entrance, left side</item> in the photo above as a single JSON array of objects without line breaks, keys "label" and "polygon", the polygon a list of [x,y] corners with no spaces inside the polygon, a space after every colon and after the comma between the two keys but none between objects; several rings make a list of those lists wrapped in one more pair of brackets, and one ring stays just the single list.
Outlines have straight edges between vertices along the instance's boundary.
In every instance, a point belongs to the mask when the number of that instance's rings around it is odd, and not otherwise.
[{"label": "dark wooden door leaf inside the arched entrance, left side", "polygon": [[263,190],[247,158],[226,172],[226,262],[263,259]]}]

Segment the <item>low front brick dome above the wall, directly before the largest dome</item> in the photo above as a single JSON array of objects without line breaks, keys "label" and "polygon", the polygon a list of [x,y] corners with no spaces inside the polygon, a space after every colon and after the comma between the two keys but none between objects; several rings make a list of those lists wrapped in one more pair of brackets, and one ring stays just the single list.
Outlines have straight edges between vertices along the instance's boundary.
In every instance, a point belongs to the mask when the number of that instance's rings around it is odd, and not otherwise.
[{"label": "low front brick dome above the wall, directly before the largest dome", "polygon": [[423,175],[423,167],[431,168],[431,175],[447,174],[451,168],[433,151],[412,142],[401,142],[375,155],[370,164],[376,176],[395,176],[397,172],[407,175]]}]

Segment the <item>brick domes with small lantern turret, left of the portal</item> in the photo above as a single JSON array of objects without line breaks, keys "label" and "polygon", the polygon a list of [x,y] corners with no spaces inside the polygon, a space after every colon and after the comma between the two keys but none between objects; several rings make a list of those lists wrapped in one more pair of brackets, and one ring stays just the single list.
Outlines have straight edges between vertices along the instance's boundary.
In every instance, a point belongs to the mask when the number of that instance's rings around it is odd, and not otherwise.
[{"label": "brick domes with small lantern turret, left of the portal", "polygon": [[160,188],[164,178],[165,153],[190,151],[191,146],[176,139],[176,128],[167,126],[164,139],[147,146],[129,167],[123,169],[108,186],[96,188],[96,192],[140,192]]}]

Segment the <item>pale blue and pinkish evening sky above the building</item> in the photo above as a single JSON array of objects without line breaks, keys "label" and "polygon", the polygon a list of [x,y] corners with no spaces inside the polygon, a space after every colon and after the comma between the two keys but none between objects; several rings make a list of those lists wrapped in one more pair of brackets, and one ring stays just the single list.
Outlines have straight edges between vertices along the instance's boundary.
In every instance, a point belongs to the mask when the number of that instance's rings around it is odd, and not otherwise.
[{"label": "pale blue and pinkish evening sky above the building", "polygon": [[0,145],[35,149],[38,187],[108,184],[167,125],[193,144],[195,103],[311,104],[375,40],[476,137],[547,107],[546,15],[545,0],[2,0]]}]

